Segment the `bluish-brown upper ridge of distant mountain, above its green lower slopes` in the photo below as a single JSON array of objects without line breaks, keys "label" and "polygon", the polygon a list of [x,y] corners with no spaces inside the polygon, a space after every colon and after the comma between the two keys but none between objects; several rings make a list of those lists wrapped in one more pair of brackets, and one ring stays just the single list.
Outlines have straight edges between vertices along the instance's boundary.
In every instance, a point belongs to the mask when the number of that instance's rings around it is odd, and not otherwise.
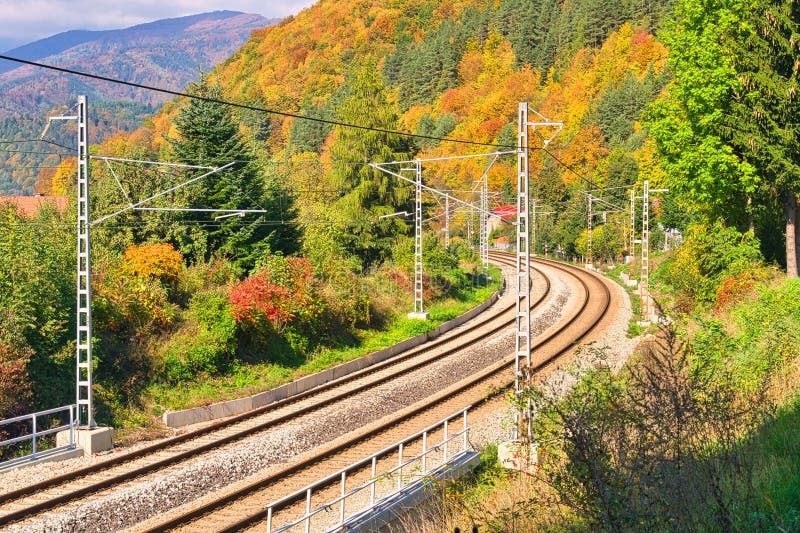
[{"label": "bluish-brown upper ridge of distant mountain, above its green lower slopes", "polygon": [[[261,15],[215,11],[119,30],[72,30],[12,52],[20,59],[179,90],[199,71],[212,68],[236,51],[253,30],[273,22]],[[166,100],[158,93],[83,79],[65,80],[61,74],[43,73],[30,65],[8,69],[11,62],[0,61],[0,65],[3,63],[0,92],[5,98],[0,102],[0,116],[14,115],[19,109],[53,107],[78,92],[99,101],[158,104]],[[3,68],[7,70],[3,72]]]}]

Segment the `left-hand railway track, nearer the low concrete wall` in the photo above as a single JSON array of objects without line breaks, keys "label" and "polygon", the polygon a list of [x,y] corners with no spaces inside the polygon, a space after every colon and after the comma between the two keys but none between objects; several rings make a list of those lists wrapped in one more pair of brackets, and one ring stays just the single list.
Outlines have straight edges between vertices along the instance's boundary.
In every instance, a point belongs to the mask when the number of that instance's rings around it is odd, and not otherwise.
[{"label": "left-hand railway track, nearer the low concrete wall", "polygon": [[[508,265],[509,257],[497,257],[496,261]],[[547,280],[540,272],[537,278]],[[537,289],[534,302],[539,305],[549,292],[549,283]],[[275,402],[256,411],[232,417],[179,437],[120,455],[109,461],[76,470],[49,480],[0,495],[0,525],[7,526],[45,512],[68,509],[71,503],[90,495],[105,494],[130,484],[132,480],[151,476],[173,465],[189,461],[201,454],[217,450],[264,432],[287,420],[334,405],[343,398],[389,382],[396,374],[419,371],[450,354],[463,350],[467,345],[481,342],[498,331],[513,324],[514,304],[495,306],[475,328],[410,350],[383,363],[343,377],[306,393]],[[472,333],[475,331],[474,333]],[[23,524],[20,524],[23,526]]]}]

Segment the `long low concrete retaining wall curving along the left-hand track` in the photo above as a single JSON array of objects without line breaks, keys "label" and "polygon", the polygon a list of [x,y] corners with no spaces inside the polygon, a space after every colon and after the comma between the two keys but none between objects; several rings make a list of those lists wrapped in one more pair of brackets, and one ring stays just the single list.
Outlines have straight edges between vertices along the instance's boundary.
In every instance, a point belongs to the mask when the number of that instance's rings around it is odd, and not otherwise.
[{"label": "long low concrete retaining wall curving along the left-hand track", "polygon": [[327,370],[317,372],[316,374],[304,376],[296,381],[281,385],[280,387],[272,390],[261,392],[247,398],[239,398],[236,400],[214,403],[205,407],[194,407],[192,409],[184,409],[183,411],[167,411],[163,415],[164,424],[169,427],[176,428],[188,426],[190,424],[197,424],[199,422],[208,422],[210,420],[215,420],[217,418],[223,418],[226,416],[238,415],[252,409],[262,407],[268,403],[282,400],[284,398],[294,396],[295,394],[305,392],[309,389],[313,389],[314,387],[318,387],[319,385],[333,381],[334,379],[338,379],[342,376],[346,376],[348,374],[352,374],[353,372],[357,372],[358,370],[367,368],[375,363],[385,361],[390,357],[394,357],[401,352],[419,346],[420,344],[428,342],[431,339],[435,339],[443,333],[460,326],[461,324],[474,318],[476,315],[482,313],[487,307],[495,303],[497,298],[498,293],[493,294],[491,298],[479,306],[470,309],[463,315],[458,316],[453,320],[439,325],[433,331],[423,333],[422,335],[417,335],[416,337],[411,337],[410,339],[406,339],[403,342],[389,346],[383,350],[372,352],[364,357],[353,359],[352,361],[348,361],[346,363],[342,363],[341,365],[331,367]]}]

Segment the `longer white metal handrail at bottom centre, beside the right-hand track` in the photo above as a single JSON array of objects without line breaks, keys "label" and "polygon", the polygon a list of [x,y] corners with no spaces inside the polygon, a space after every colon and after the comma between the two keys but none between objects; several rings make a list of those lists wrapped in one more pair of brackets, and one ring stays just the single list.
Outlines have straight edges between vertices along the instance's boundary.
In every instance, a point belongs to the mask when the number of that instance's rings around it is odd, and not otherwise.
[{"label": "longer white metal handrail at bottom centre, beside the right-hand track", "polygon": [[[422,431],[419,431],[419,432],[411,435],[410,437],[406,437],[405,439],[403,439],[400,442],[397,442],[397,443],[395,443],[395,444],[393,444],[391,446],[387,446],[386,448],[382,449],[379,452],[376,452],[376,453],[372,454],[369,457],[361,459],[360,461],[357,461],[357,462],[355,462],[355,463],[353,463],[353,464],[351,464],[351,465],[349,465],[349,466],[347,466],[345,468],[342,468],[341,470],[339,470],[337,472],[334,472],[333,474],[330,474],[330,475],[328,475],[328,476],[326,476],[326,477],[324,477],[324,478],[322,478],[320,480],[317,480],[314,483],[312,483],[312,484],[310,484],[310,485],[308,485],[308,486],[306,486],[306,487],[304,487],[304,488],[302,488],[300,490],[297,490],[297,491],[289,494],[288,496],[284,496],[283,498],[270,503],[267,506],[267,533],[273,533],[273,530],[272,530],[273,510],[275,510],[276,508],[283,507],[287,503],[290,503],[292,501],[295,501],[295,500],[299,499],[303,494],[305,494],[305,496],[306,496],[306,498],[305,498],[306,499],[306,513],[305,513],[305,515],[300,517],[300,518],[298,518],[298,519],[296,519],[296,520],[294,520],[293,522],[291,522],[289,524],[286,524],[286,525],[274,530],[275,533],[280,532],[280,531],[285,531],[285,530],[287,530],[289,528],[292,528],[294,526],[297,526],[297,525],[299,525],[299,524],[301,524],[303,522],[306,522],[306,531],[310,531],[311,518],[314,517],[315,515],[317,515],[318,513],[322,512],[322,511],[329,510],[332,506],[336,505],[337,503],[340,504],[340,517],[339,517],[339,524],[338,525],[341,526],[345,522],[345,506],[344,506],[345,500],[347,498],[349,498],[350,496],[352,496],[352,495],[354,495],[354,494],[366,489],[367,487],[369,487],[371,489],[370,490],[370,505],[366,509],[369,509],[369,508],[373,507],[375,505],[375,484],[379,480],[393,475],[394,472],[399,472],[400,473],[400,476],[398,477],[397,489],[394,492],[392,492],[391,494],[387,495],[386,497],[391,496],[393,494],[397,494],[398,492],[400,492],[403,489],[404,486],[407,486],[407,485],[403,485],[402,472],[403,472],[403,468],[405,466],[408,466],[411,463],[414,463],[414,462],[417,462],[417,461],[421,460],[422,461],[422,470],[423,470],[423,472],[420,475],[424,477],[425,475],[429,474],[429,471],[426,468],[426,459],[427,459],[427,456],[428,456],[429,453],[438,452],[440,450],[443,451],[442,464],[445,464],[447,462],[447,460],[448,460],[448,454],[447,454],[447,444],[448,444],[448,442],[450,442],[451,440],[458,439],[460,437],[463,438],[463,449],[464,450],[467,449],[469,429],[470,429],[469,426],[467,425],[467,413],[468,413],[470,407],[472,407],[472,406],[465,407],[461,411],[458,411],[458,412],[448,416],[447,418],[445,418],[443,420],[440,420],[439,422],[436,422],[435,424],[432,424],[432,425],[428,426],[427,428],[425,428]],[[463,422],[463,424],[464,424],[463,428],[460,431],[456,432],[456,433],[448,435],[448,431],[447,431],[448,430],[448,422],[450,420],[454,419],[454,418],[457,418],[460,415],[463,417],[463,421],[464,421]],[[442,441],[439,444],[436,444],[436,445],[433,445],[431,447],[428,447],[428,444],[427,444],[428,433],[430,433],[431,431],[433,431],[434,429],[437,429],[439,427],[443,427],[444,428],[444,435],[442,437]],[[415,440],[419,439],[420,437],[422,437],[422,447],[423,447],[422,453],[420,453],[418,455],[415,455],[414,457],[412,457],[410,459],[404,460],[403,459],[403,446],[405,444],[408,444],[409,442],[412,442],[412,441],[415,441]],[[381,475],[378,476],[377,472],[376,472],[378,458],[383,457],[385,455],[388,455],[390,452],[393,452],[394,450],[398,450],[398,464],[397,464],[397,466],[394,466],[391,469],[389,469],[389,470],[387,470],[385,472],[382,472]],[[371,472],[369,481],[367,481],[366,483],[363,483],[362,485],[359,485],[358,487],[356,487],[354,489],[351,489],[350,491],[346,492],[345,491],[345,486],[346,486],[346,480],[347,480],[347,473],[351,472],[353,470],[358,470],[361,467],[367,465],[368,463],[371,463],[371,466],[372,466],[372,472]],[[321,506],[317,507],[316,509],[314,509],[312,511],[312,509],[311,509],[311,494],[312,494],[313,490],[316,489],[316,488],[319,488],[321,486],[328,485],[330,482],[334,481],[337,478],[341,478],[341,487],[342,487],[341,495],[338,498],[336,498],[336,499],[334,499],[332,501],[329,501],[326,504],[321,505]],[[359,513],[363,512],[364,510],[365,509],[362,509],[361,511],[359,511]]]}]

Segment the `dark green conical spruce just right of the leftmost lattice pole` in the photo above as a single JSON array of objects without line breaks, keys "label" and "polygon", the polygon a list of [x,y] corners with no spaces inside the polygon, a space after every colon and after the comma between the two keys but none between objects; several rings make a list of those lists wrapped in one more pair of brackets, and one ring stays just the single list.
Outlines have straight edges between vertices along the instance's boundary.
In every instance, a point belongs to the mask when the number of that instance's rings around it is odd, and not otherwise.
[{"label": "dark green conical spruce just right of the leftmost lattice pole", "polygon": [[[255,264],[265,249],[293,251],[296,236],[291,229],[294,217],[291,202],[280,187],[273,187],[267,194],[263,173],[240,134],[230,106],[214,101],[222,98],[221,87],[204,76],[190,85],[188,91],[204,99],[188,99],[178,112],[175,126],[180,137],[170,139],[175,159],[191,165],[221,167],[231,162],[233,165],[188,185],[182,192],[184,205],[220,210],[264,209],[267,213],[226,217],[200,226],[179,224],[183,227],[170,235],[171,240],[195,260],[208,260],[220,254],[245,270]],[[197,174],[195,170],[185,177]],[[210,218],[214,217],[211,213]],[[181,218],[186,222],[198,217],[192,213]],[[274,225],[272,221],[290,225]]]}]

